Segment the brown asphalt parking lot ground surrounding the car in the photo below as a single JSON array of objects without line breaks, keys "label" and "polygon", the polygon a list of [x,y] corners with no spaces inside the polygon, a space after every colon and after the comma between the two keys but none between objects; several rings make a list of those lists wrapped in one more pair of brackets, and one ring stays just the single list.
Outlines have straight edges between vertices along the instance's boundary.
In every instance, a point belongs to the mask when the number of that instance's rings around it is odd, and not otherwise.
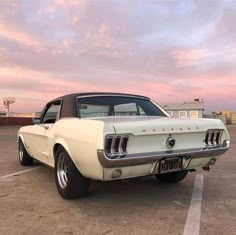
[{"label": "brown asphalt parking lot ground surrounding the car", "polygon": [[[53,169],[19,164],[17,130],[0,127],[0,234],[236,234],[236,126],[228,126],[231,148],[210,172],[174,185],[154,177],[95,182],[76,200],[59,196]],[[202,194],[194,198],[199,176]]]}]

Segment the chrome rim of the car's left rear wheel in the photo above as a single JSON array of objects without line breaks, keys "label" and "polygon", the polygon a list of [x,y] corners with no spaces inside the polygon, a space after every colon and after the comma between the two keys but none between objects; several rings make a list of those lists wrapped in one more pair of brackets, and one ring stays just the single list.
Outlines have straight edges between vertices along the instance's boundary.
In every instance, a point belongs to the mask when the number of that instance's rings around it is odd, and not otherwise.
[{"label": "chrome rim of the car's left rear wheel", "polygon": [[68,161],[65,153],[60,153],[57,159],[57,180],[62,189],[68,184]]}]

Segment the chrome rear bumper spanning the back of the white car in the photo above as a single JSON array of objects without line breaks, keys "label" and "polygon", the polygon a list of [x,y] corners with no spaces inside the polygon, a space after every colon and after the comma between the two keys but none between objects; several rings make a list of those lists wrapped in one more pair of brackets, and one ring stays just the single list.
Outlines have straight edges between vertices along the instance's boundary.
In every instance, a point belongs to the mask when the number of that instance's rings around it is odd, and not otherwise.
[{"label": "chrome rear bumper spanning the back of the white car", "polygon": [[124,166],[135,166],[159,161],[162,158],[177,157],[177,156],[191,156],[191,159],[203,158],[203,157],[214,157],[224,154],[229,147],[220,146],[216,148],[194,148],[184,150],[169,150],[160,152],[150,153],[139,153],[139,154],[127,154],[123,158],[109,159],[104,150],[98,150],[97,156],[100,164],[106,168],[113,167],[124,167]]}]

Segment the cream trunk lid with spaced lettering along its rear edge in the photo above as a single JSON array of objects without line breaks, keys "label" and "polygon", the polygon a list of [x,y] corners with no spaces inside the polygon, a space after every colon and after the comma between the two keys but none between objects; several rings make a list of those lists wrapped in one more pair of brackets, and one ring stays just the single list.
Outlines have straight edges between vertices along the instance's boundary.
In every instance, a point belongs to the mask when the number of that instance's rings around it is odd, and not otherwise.
[{"label": "cream trunk lid with spaced lettering along its rear edge", "polygon": [[116,134],[130,133],[137,136],[225,129],[223,123],[218,119],[129,116],[96,118],[96,120],[113,125]]}]

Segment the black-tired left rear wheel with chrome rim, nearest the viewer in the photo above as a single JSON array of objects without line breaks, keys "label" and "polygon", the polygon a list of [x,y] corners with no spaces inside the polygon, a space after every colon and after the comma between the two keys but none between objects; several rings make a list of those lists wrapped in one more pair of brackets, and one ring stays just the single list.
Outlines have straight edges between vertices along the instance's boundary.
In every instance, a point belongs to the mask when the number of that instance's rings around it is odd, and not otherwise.
[{"label": "black-tired left rear wheel with chrome rim, nearest the viewer", "polygon": [[88,194],[90,180],[79,172],[63,147],[56,151],[54,173],[57,190],[63,198],[73,199]]}]

